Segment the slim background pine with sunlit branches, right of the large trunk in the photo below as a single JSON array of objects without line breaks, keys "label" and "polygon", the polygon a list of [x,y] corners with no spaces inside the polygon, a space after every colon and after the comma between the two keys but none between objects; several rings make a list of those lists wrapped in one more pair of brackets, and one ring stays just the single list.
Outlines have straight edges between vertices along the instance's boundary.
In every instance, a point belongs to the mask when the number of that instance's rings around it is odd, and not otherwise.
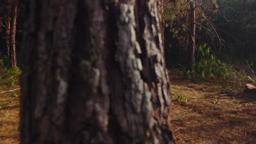
[{"label": "slim background pine with sunlit branches, right of the large trunk", "polygon": [[[212,39],[219,40],[216,43],[222,46],[223,39],[221,39],[214,27],[210,15],[208,13],[217,13],[218,4],[215,0],[166,0],[164,2],[164,19],[166,21],[166,33],[171,33],[171,38],[166,37],[166,41],[173,41],[170,45],[165,45],[166,49],[179,49],[186,56],[179,56],[188,70],[193,70],[195,62],[196,45],[202,43],[201,29],[207,35],[211,35]],[[196,28],[197,26],[197,28]],[[198,35],[195,36],[195,35]],[[169,36],[169,37],[170,37]],[[174,41],[175,39],[176,41]],[[198,40],[198,42],[196,42]],[[179,43],[179,46],[173,46]],[[172,45],[172,46],[171,46]],[[170,50],[169,50],[170,51]],[[168,54],[167,54],[168,55]],[[186,58],[184,58],[186,57]],[[168,58],[167,58],[168,59]]]}]

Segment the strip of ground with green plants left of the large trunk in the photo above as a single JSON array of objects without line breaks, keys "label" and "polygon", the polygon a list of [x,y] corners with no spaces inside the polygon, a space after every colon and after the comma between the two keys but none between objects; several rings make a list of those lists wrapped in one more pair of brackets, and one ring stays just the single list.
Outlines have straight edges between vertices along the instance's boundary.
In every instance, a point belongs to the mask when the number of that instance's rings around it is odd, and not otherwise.
[{"label": "strip of ground with green plants left of the large trunk", "polygon": [[3,68],[0,61],[0,143],[16,144],[19,141],[20,86],[17,67]]}]

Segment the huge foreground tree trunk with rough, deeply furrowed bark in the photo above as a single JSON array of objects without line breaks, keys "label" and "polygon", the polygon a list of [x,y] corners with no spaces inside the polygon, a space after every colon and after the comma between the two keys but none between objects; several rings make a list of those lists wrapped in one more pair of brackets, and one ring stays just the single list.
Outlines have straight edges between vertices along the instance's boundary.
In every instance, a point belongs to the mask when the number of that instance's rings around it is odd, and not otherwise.
[{"label": "huge foreground tree trunk with rough, deeply furrowed bark", "polygon": [[34,1],[21,143],[174,143],[160,1]]}]

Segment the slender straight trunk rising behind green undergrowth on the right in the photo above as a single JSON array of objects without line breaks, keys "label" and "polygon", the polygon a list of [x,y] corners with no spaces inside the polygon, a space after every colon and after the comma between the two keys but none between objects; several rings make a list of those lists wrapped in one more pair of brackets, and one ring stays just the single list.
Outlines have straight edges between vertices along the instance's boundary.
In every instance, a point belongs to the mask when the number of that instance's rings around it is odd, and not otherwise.
[{"label": "slender straight trunk rising behind green undergrowth on the right", "polygon": [[[189,0],[190,1],[190,0]],[[195,62],[195,1],[190,1],[190,31],[188,49],[188,70],[193,70]]]}]

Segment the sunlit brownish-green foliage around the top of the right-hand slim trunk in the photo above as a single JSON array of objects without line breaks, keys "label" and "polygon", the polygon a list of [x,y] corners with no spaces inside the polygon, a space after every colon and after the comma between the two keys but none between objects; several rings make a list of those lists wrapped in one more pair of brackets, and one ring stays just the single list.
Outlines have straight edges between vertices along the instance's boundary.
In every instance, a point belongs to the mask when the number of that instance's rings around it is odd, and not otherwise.
[{"label": "sunlit brownish-green foliage around the top of the right-hand slim trunk", "polygon": [[[165,21],[165,27],[169,28],[168,30],[173,34],[172,38],[187,38],[190,29],[190,7],[191,2],[187,0],[177,0],[177,1],[163,1],[164,13],[162,17]],[[218,5],[216,1],[196,1],[195,7],[195,20],[200,21],[200,27],[198,28],[201,31],[201,28],[211,29],[209,23],[205,21],[205,14],[212,13],[215,14]],[[213,10],[215,9],[215,10]],[[203,16],[202,16],[203,15]],[[206,31],[205,31],[206,32]],[[180,41],[185,44],[184,40]]]}]

